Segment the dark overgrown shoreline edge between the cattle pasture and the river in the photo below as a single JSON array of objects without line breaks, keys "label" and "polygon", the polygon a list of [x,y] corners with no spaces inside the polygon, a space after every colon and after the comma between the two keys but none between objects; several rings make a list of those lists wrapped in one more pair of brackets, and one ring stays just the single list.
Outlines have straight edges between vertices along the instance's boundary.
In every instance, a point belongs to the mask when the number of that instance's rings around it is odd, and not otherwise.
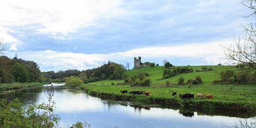
[{"label": "dark overgrown shoreline edge between the cattle pasture and the river", "polygon": [[[91,91],[89,89],[84,89],[81,87],[81,90],[85,91],[85,93],[91,95],[92,97],[98,97],[101,99],[107,100],[115,100],[115,101],[130,101],[130,102],[140,102],[142,105],[158,105],[161,108],[171,108],[171,109],[179,109],[184,111],[188,109],[191,111],[196,111],[197,113],[206,114],[206,115],[222,115],[225,113],[225,116],[230,116],[230,114],[226,114],[228,111],[236,112],[236,114],[231,115],[235,117],[243,117],[250,118],[254,117],[256,113],[256,108],[252,106],[244,105],[239,102],[219,102],[219,101],[211,101],[211,100],[187,100],[187,99],[169,99],[169,98],[154,98],[154,97],[144,97],[140,95],[130,95],[130,94],[114,94],[114,93],[104,93],[104,92],[96,92]],[[255,105],[254,105],[255,106]],[[186,110],[185,110],[186,111]],[[221,111],[221,112],[218,112]],[[192,112],[191,112],[192,113]]]}]

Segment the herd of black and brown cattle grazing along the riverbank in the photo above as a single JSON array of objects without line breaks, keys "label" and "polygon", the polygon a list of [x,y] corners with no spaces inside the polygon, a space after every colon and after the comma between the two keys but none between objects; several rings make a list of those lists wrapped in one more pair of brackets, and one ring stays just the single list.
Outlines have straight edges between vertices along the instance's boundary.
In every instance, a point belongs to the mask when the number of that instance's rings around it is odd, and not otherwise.
[{"label": "herd of black and brown cattle grazing along the riverbank", "polygon": [[[122,94],[124,94],[124,93],[128,93],[128,91],[127,90],[122,90],[122,91],[120,91],[120,92],[122,92]],[[140,95],[140,94],[145,94],[145,95],[147,95],[147,96],[149,96],[150,95],[150,91],[147,91],[147,92],[145,92],[145,91],[130,91],[129,92],[129,94],[138,94],[138,95]],[[173,95],[177,95],[177,92],[173,92],[172,93],[172,96]],[[205,94],[200,94],[200,93],[197,93],[196,94],[196,97],[197,98],[206,98],[206,99],[210,99],[210,98],[212,98],[213,99],[213,94],[208,94],[208,95],[205,95]],[[179,98],[182,98],[182,99],[188,99],[188,100],[190,100],[190,99],[193,99],[194,100],[194,94],[193,93],[185,93],[185,94],[179,94]]]}]

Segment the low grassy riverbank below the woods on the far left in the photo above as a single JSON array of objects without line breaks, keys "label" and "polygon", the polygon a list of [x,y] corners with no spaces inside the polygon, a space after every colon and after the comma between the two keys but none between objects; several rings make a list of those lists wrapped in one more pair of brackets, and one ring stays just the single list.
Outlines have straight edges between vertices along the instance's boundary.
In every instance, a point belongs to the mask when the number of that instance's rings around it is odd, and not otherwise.
[{"label": "low grassy riverbank below the woods on the far left", "polygon": [[31,82],[31,83],[2,83],[0,84],[0,91],[9,91],[9,90],[17,90],[23,87],[33,87],[33,86],[40,86],[44,84],[50,84],[49,82]]}]

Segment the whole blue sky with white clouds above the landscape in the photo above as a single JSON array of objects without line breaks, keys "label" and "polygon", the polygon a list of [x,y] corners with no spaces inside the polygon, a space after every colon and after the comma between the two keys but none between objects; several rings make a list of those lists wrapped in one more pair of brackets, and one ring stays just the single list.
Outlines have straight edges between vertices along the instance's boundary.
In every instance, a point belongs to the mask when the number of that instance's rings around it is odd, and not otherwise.
[{"label": "whole blue sky with white clouds above the landscape", "polygon": [[245,36],[251,11],[238,0],[2,0],[5,55],[41,71],[86,70],[108,61],[218,65],[222,46]]}]

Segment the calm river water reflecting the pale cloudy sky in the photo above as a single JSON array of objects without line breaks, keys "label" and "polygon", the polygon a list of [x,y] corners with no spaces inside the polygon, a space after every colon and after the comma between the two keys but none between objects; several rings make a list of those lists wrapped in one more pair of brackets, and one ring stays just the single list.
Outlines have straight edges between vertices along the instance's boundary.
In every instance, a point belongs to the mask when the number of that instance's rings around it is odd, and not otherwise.
[{"label": "calm river water reflecting the pale cloudy sky", "polygon": [[[61,118],[60,126],[67,127],[76,121],[93,127],[223,127],[234,126],[238,118],[207,116],[199,113],[180,114],[179,110],[134,107],[131,102],[112,102],[91,97],[83,91],[67,89],[63,84],[53,84],[56,102],[54,114]],[[25,105],[47,101],[46,87],[31,87],[15,93],[0,94],[0,98],[19,97]],[[222,124],[223,123],[223,124]]]}]

